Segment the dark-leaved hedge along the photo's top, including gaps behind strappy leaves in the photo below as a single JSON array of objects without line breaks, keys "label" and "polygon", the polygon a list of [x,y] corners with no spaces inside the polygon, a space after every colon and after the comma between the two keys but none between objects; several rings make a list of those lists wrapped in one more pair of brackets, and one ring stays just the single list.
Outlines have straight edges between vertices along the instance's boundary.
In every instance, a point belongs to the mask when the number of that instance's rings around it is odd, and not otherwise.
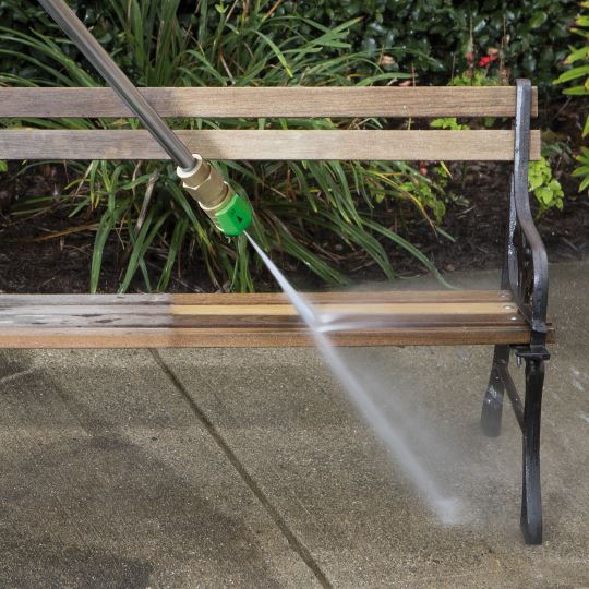
[{"label": "dark-leaved hedge along the photo's top, including gaps behind strappy leaves", "polygon": [[[110,2],[70,2],[84,15],[88,26],[107,49],[117,48],[116,33],[105,28],[101,16]],[[207,26],[218,24],[208,2]],[[217,2],[224,4],[224,2]],[[225,2],[230,5],[230,2]],[[251,2],[260,4],[260,2]],[[268,5],[272,5],[268,4]],[[182,0],[179,20],[184,26],[199,26],[201,2]],[[465,68],[470,31],[474,53],[484,55],[489,47],[498,47],[505,33],[506,63],[514,77],[531,79],[544,91],[552,91],[551,81],[560,73],[570,44],[569,25],[578,13],[577,0],[288,0],[278,3],[275,14],[299,12],[325,26],[337,26],[359,17],[348,39],[353,50],[368,49],[377,56],[383,47],[396,47],[396,63],[389,71],[410,71],[414,67],[421,84],[446,84],[453,67]],[[56,31],[43,9],[35,2],[0,0],[0,22],[22,32]],[[300,32],[308,35],[310,25],[300,21]],[[404,51],[406,49],[407,51]],[[75,49],[70,49],[72,57]],[[1,59],[0,71],[23,73],[20,64]],[[386,69],[386,68],[385,68]]]}]

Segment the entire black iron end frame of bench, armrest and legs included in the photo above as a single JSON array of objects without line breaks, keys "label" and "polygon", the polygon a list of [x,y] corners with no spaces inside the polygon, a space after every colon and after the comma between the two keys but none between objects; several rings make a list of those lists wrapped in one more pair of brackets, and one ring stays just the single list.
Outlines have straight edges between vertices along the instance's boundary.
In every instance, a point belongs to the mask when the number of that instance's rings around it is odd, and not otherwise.
[{"label": "entire black iron end frame of bench, armrest and legs included", "polygon": [[[542,498],[540,485],[540,418],[546,350],[549,292],[548,255],[533,223],[528,190],[532,91],[529,80],[516,81],[515,158],[510,182],[507,243],[502,288],[513,293],[520,313],[530,325],[530,344],[496,346],[491,376],[483,400],[481,425],[489,436],[497,436],[504,393],[507,393],[522,433],[521,530],[528,544],[542,543]],[[509,356],[526,363],[526,393],[521,401],[509,375]]]}]

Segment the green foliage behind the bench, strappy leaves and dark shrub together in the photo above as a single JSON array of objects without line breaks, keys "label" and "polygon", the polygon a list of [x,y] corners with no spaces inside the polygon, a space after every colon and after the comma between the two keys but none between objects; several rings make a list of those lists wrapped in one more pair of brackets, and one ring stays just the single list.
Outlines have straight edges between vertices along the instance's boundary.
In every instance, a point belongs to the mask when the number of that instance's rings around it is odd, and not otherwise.
[{"label": "green foliage behind the bench, strappy leaves and dark shrub together", "polygon": [[[354,85],[411,81],[446,84],[476,57],[504,44],[512,77],[553,80],[567,53],[575,0],[187,0],[69,1],[140,86]],[[0,84],[101,85],[79,51],[34,0],[0,0]],[[382,57],[386,55],[387,59]],[[485,82],[488,72],[481,69]],[[548,87],[548,86],[546,86]],[[134,128],[136,122],[0,121],[4,127]],[[383,122],[325,120],[179,120],[177,129],[377,129]],[[100,288],[103,252],[122,252],[120,289],[167,289],[183,251],[200,252],[213,285],[254,289],[257,259],[243,239],[228,241],[203,219],[165,163],[70,163],[74,180],[60,197],[21,200],[13,215],[61,209],[72,231],[95,221],[92,290]],[[23,168],[19,173],[23,173]],[[433,178],[402,163],[227,163],[221,171],[250,196],[262,245],[304,265],[321,280],[346,284],[352,269],[376,265],[396,276],[386,248],[405,250],[440,275],[409,241],[408,206],[438,235],[449,196]],[[154,196],[152,199],[152,195]],[[397,223],[400,218],[400,224]],[[409,239],[408,239],[409,238]],[[339,252],[339,253],[336,253]],[[158,260],[154,274],[153,256]],[[141,283],[141,284],[137,284]]]}]

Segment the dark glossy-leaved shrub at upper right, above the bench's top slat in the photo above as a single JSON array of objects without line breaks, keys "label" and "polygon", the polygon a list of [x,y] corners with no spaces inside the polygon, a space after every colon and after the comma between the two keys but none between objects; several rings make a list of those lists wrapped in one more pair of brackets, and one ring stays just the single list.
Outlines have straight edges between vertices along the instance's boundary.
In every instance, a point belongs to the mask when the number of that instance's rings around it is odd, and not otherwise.
[{"label": "dark glossy-leaved shrub at upper right, above the bench's top slat", "polygon": [[374,56],[383,47],[411,50],[389,68],[414,67],[422,84],[445,84],[453,69],[460,71],[467,52],[481,56],[500,47],[505,32],[512,75],[530,77],[544,88],[566,55],[567,25],[576,14],[576,0],[299,0],[284,2],[279,10],[287,13],[294,5],[326,26],[361,17],[352,43]]}]

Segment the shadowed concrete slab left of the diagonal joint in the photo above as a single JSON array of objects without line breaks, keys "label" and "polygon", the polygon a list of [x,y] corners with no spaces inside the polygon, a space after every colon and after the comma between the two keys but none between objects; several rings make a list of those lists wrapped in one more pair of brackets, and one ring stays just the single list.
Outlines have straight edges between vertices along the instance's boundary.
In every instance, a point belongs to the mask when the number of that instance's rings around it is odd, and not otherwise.
[{"label": "shadowed concrete slab left of the diagonal joint", "polygon": [[149,352],[1,365],[1,587],[318,586]]}]

